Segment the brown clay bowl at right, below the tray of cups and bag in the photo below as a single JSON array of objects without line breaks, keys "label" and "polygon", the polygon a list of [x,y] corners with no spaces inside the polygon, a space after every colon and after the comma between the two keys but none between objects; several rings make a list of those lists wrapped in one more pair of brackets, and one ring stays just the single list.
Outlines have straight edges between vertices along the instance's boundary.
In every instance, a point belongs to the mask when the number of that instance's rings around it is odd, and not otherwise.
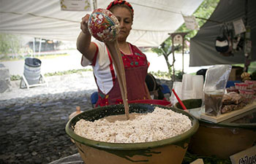
[{"label": "brown clay bowl at right, below the tray of cups and bag", "polygon": [[255,141],[256,125],[227,126],[200,120],[199,129],[189,144],[189,152],[228,159],[230,155],[252,147]]}]

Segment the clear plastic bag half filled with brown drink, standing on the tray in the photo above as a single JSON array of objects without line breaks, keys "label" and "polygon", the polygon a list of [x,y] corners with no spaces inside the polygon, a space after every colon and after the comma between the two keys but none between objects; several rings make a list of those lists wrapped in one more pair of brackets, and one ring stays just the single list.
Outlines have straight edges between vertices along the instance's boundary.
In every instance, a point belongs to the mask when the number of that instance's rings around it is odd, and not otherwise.
[{"label": "clear plastic bag half filled with brown drink, standing on the tray", "polygon": [[206,71],[203,104],[206,106],[207,115],[217,117],[221,114],[222,97],[231,69],[230,65],[216,65]]}]

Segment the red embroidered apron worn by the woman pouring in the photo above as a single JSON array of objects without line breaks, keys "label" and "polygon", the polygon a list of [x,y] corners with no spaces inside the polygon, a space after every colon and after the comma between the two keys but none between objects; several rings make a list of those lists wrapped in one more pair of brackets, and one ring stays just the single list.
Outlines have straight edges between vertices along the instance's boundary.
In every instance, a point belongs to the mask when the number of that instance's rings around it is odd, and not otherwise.
[{"label": "red embroidered apron worn by the woman pouring", "polygon": [[[145,86],[146,74],[148,71],[148,62],[137,47],[131,45],[132,55],[122,55],[124,62],[125,77],[127,80],[127,98],[128,101],[142,100],[148,97]],[[109,53],[109,52],[108,52]],[[108,54],[110,58],[110,54]],[[110,58],[110,61],[112,59]],[[117,78],[113,80],[113,87],[109,93],[104,94],[98,89],[98,101],[96,106],[107,106],[113,104],[122,104],[121,90]]]}]

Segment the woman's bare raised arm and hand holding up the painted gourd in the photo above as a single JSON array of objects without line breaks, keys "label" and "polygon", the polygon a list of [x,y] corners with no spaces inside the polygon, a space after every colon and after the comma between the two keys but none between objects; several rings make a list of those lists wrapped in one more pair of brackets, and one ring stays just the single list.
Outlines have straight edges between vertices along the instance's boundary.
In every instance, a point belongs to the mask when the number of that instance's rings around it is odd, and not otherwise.
[{"label": "woman's bare raised arm and hand holding up the painted gourd", "polygon": [[81,32],[77,39],[77,49],[86,57],[88,60],[93,60],[97,47],[91,43],[91,34],[89,32],[87,23],[90,15],[86,15],[80,22]]}]

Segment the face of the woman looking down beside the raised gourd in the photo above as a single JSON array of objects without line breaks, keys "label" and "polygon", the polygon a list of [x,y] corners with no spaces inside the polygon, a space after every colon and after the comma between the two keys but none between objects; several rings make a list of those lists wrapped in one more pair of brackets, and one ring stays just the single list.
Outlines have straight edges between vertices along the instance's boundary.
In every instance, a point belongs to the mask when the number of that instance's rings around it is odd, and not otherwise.
[{"label": "face of the woman looking down beside the raised gourd", "polygon": [[132,29],[132,15],[126,7],[116,7],[113,9],[115,15],[120,23],[120,32],[118,34],[118,41],[126,41],[129,31]]}]

